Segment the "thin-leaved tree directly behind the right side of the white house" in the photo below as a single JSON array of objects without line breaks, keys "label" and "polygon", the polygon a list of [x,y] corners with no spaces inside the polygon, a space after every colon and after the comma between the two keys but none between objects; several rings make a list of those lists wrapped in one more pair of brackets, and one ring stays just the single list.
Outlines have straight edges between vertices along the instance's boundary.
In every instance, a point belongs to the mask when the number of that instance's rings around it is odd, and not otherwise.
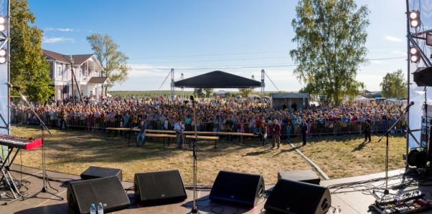
[{"label": "thin-leaved tree directly behind the right side of the white house", "polygon": [[[112,84],[123,83],[128,78],[129,57],[119,51],[119,44],[115,43],[108,34],[91,34],[87,36],[87,41],[104,69],[104,76],[108,77]],[[110,87],[112,85],[104,89],[104,94]]]}]

